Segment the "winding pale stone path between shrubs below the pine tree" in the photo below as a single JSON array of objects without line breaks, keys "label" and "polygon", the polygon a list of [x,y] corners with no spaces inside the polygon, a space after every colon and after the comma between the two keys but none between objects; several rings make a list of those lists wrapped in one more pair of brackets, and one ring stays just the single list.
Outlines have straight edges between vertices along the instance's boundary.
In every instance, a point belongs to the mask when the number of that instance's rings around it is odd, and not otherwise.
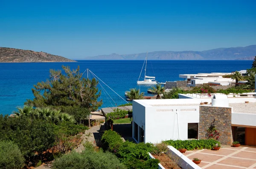
[{"label": "winding pale stone path between shrubs below the pine tree", "polygon": [[[99,139],[99,136],[100,136],[99,127],[100,127],[100,125],[93,126],[90,129],[85,131],[85,133],[83,134],[84,139],[82,141],[82,144],[80,144],[80,146],[77,149],[75,149],[76,152],[82,152],[82,150],[84,150],[83,143],[85,141],[90,141],[92,144],[95,144],[94,141],[96,139]],[[43,163],[43,165],[36,167],[35,169],[50,169],[52,166],[51,163],[52,163],[52,161],[50,161],[48,163]]]}]

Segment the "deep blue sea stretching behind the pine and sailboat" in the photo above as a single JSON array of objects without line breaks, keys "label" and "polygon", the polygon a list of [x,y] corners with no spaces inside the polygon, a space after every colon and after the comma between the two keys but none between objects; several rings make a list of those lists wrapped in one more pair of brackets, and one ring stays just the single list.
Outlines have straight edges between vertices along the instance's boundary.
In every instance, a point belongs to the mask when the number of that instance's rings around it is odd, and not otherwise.
[{"label": "deep blue sea stretching behind the pine and sailboat", "polygon": [[[23,106],[26,99],[33,99],[31,88],[37,82],[49,78],[49,69],[61,70],[61,65],[71,68],[80,66],[83,72],[89,68],[103,82],[125,99],[124,93],[137,87],[137,80],[143,60],[135,61],[103,61],[79,60],[70,63],[0,63],[0,114],[11,114],[17,106]],[[251,68],[252,61],[239,60],[154,60],[148,61],[147,76],[156,76],[158,82],[183,80],[179,74],[231,72]],[[144,77],[144,74],[142,75]],[[91,76],[92,77],[92,76]],[[125,104],[119,96],[103,85],[114,102],[102,91],[102,107],[111,107],[115,103]],[[147,92],[150,86],[140,86],[141,92]],[[101,87],[99,86],[99,89]]]}]

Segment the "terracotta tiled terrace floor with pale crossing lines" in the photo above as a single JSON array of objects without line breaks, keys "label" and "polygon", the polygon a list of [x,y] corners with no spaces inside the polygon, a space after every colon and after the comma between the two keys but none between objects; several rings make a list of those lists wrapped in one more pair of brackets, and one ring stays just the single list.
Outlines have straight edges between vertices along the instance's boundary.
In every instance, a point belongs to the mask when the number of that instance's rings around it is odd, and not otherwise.
[{"label": "terracotta tiled terrace floor with pale crossing lines", "polygon": [[187,151],[189,159],[198,158],[202,169],[256,169],[256,148],[222,146],[216,150]]}]

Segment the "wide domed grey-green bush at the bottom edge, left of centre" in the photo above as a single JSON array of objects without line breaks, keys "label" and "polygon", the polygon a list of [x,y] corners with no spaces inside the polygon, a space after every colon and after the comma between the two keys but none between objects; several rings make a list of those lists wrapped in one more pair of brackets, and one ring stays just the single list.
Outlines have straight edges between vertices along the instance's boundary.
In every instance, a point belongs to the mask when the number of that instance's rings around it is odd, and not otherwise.
[{"label": "wide domed grey-green bush at the bottom edge, left of centre", "polygon": [[126,167],[110,152],[86,149],[82,153],[71,152],[56,159],[52,169],[126,169]]}]

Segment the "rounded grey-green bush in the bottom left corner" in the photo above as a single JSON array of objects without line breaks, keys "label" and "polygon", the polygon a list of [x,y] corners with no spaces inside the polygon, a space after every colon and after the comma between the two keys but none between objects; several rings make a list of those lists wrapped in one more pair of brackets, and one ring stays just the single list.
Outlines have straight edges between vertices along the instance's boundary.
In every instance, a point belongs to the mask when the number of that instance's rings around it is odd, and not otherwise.
[{"label": "rounded grey-green bush in the bottom left corner", "polygon": [[0,169],[20,169],[25,159],[18,146],[11,141],[0,141]]}]

